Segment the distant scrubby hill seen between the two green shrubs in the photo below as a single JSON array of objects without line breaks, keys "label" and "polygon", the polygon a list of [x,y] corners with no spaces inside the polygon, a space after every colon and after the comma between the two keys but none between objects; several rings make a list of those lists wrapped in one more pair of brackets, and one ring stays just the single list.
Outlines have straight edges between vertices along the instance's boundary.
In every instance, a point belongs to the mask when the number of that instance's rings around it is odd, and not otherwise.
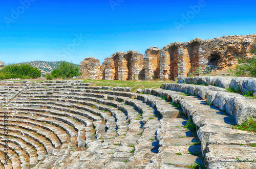
[{"label": "distant scrubby hill seen between the two green shrubs", "polygon": [[[32,61],[32,62],[25,62],[24,64],[29,64],[41,71],[42,75],[46,75],[46,73],[52,72],[54,69],[57,69],[60,62],[45,62],[45,61]],[[79,66],[74,64],[75,66]]]}]

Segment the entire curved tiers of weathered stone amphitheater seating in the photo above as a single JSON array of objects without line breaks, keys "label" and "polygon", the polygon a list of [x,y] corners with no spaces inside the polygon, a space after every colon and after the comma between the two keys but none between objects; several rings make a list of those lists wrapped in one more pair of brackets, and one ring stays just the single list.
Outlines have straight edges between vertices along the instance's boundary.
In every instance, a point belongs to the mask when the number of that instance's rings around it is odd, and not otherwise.
[{"label": "entire curved tiers of weathered stone amphitheater seating", "polygon": [[231,109],[248,99],[223,88],[163,84],[135,94],[80,80],[0,82],[0,168],[256,166],[256,136],[233,128],[254,116],[245,113],[254,100]]}]

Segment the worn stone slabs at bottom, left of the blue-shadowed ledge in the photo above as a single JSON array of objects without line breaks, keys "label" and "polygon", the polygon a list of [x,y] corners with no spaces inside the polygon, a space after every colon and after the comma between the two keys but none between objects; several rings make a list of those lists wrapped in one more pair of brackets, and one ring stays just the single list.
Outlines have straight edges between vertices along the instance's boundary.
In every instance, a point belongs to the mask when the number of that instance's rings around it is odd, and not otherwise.
[{"label": "worn stone slabs at bottom, left of the blue-shadowed ledge", "polygon": [[[152,157],[152,163],[148,164],[147,168],[166,164],[181,167],[188,167],[196,162],[203,164],[200,140],[196,136],[196,131],[186,127],[187,123],[188,119],[160,120],[160,128],[157,130],[159,153]],[[179,156],[187,161],[179,161]],[[168,161],[168,158],[173,162]]]}]

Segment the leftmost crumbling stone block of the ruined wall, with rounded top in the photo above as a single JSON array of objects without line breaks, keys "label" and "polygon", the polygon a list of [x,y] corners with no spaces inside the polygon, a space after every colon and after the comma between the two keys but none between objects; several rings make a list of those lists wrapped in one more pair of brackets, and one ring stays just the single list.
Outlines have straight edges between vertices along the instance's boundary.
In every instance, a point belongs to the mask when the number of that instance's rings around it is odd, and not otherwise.
[{"label": "leftmost crumbling stone block of the ruined wall, with rounded top", "polygon": [[102,79],[100,62],[96,58],[86,58],[80,63],[80,72],[83,79]]}]

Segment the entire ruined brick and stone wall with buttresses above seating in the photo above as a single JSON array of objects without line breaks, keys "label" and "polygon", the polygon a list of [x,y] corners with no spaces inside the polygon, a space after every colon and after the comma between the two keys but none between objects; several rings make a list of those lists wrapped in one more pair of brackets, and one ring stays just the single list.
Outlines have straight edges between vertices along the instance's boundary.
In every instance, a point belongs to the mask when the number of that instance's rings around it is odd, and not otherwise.
[{"label": "entire ruined brick and stone wall with buttresses above seating", "polygon": [[254,47],[255,37],[255,34],[235,35],[210,40],[196,38],[189,42],[175,42],[162,49],[148,48],[145,58],[143,54],[133,50],[117,52],[106,58],[101,66],[97,62],[98,69],[88,63],[87,71],[81,69],[81,72],[88,74],[88,70],[93,68],[97,79],[106,80],[174,79],[186,77],[193,72],[200,75],[237,65],[241,58],[246,60],[253,57],[250,51]]}]

